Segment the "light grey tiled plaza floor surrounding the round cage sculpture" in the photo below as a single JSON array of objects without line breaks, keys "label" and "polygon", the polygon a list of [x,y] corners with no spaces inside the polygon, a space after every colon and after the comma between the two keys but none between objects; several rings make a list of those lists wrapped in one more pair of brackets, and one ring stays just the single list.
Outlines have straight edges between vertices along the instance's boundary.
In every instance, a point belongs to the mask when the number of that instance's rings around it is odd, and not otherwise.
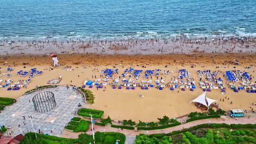
[{"label": "light grey tiled plaza floor surrounding the round cage sculpture", "polygon": [[[56,101],[56,107],[45,113],[36,112],[32,102],[32,98],[42,91],[53,92]],[[71,88],[67,90],[65,86],[35,91],[20,97],[15,104],[7,106],[6,110],[0,113],[0,124],[11,126],[8,133],[12,131],[12,135],[18,135],[20,131],[24,135],[27,132],[33,132],[31,121],[28,118],[28,116],[32,116],[32,122],[37,133],[40,129],[44,134],[60,136],[60,131],[64,131],[64,127],[71,118],[75,117],[75,112],[81,108],[78,107],[79,103],[84,105],[82,95]],[[25,117],[25,124],[22,115]],[[20,129],[18,125],[20,125]]]}]

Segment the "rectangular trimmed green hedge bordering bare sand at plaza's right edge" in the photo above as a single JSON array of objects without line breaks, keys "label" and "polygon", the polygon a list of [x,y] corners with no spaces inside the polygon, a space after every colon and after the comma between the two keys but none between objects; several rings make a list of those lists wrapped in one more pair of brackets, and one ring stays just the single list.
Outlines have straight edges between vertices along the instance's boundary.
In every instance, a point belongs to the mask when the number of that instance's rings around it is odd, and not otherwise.
[{"label": "rectangular trimmed green hedge bordering bare sand at plaza's right edge", "polygon": [[92,117],[94,118],[101,118],[104,114],[104,111],[89,108],[81,108],[78,110],[77,114],[84,117],[91,117],[90,114],[92,114]]}]

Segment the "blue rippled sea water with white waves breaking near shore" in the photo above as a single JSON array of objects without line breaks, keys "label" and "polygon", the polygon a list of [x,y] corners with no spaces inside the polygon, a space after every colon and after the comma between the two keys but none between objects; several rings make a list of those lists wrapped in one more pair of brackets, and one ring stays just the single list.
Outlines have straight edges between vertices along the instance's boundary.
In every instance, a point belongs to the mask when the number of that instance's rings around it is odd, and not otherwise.
[{"label": "blue rippled sea water with white waves breaking near shore", "polygon": [[0,0],[0,39],[256,36],[256,0]]}]

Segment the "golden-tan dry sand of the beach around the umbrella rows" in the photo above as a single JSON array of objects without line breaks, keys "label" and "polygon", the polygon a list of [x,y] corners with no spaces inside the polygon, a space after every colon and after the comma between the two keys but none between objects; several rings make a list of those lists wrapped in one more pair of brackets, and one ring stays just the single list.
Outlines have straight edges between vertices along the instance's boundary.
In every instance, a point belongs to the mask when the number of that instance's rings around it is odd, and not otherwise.
[{"label": "golden-tan dry sand of the beach around the umbrella rows", "polygon": [[[17,75],[20,70],[29,71],[31,68],[37,68],[42,71],[43,74],[37,75],[31,79],[31,82],[26,88],[20,90],[10,90],[7,88],[0,88],[1,97],[15,98],[22,96],[25,91],[35,88],[37,85],[47,85],[47,81],[56,79],[62,76],[62,81],[58,85],[75,85],[76,87],[82,86],[82,82],[87,78],[95,80],[93,76],[100,77],[99,71],[105,68],[119,69],[119,72],[124,72],[127,68],[134,68],[139,70],[169,70],[174,73],[169,75],[161,75],[165,81],[170,81],[174,78],[174,75],[178,74],[179,69],[186,69],[191,72],[191,77],[196,81],[196,89],[194,91],[181,91],[180,88],[174,91],[165,88],[164,90],[158,90],[155,88],[149,88],[149,90],[140,90],[136,87],[135,90],[122,90],[112,89],[108,84],[106,90],[99,89],[94,86],[90,90],[95,95],[94,104],[90,105],[90,108],[101,109],[105,111],[104,117],[108,115],[112,119],[133,119],[135,121],[156,121],[158,117],[167,115],[169,117],[179,117],[185,114],[189,114],[192,111],[201,111],[193,104],[190,105],[190,101],[195,99],[203,91],[199,88],[199,78],[197,75],[198,70],[211,70],[220,71],[220,78],[223,78],[224,83],[227,82],[223,77],[225,71],[228,70],[241,70],[252,74],[252,81],[255,82],[255,64],[256,59],[254,54],[240,53],[240,54],[151,54],[151,55],[124,55],[124,54],[58,54],[59,61],[62,66],[52,67],[51,57],[49,55],[11,55],[1,56],[1,69],[0,73],[6,72],[7,68],[12,68],[13,71],[9,72],[11,77],[6,75],[0,77],[5,81],[8,79],[13,82],[18,80],[26,80],[28,76],[21,77]],[[234,59],[239,61],[239,65],[234,65]],[[28,63],[24,65],[23,63]],[[224,64],[223,64],[224,63]],[[65,66],[72,66],[72,71],[66,71],[63,69]],[[192,65],[194,66],[192,68]],[[86,69],[84,69],[84,66]],[[115,68],[113,67],[115,66]],[[219,66],[219,68],[216,68]],[[247,66],[251,66],[251,69],[246,69]],[[25,68],[24,68],[25,67]],[[53,70],[51,70],[53,68]],[[119,74],[120,74],[119,73]],[[78,77],[79,75],[79,77]],[[160,77],[160,76],[159,76]],[[152,80],[155,80],[153,76]],[[142,78],[140,78],[142,80]],[[72,81],[72,82],[71,82]],[[207,92],[207,96],[211,99],[218,100],[220,108],[230,110],[232,108],[250,109],[251,103],[256,102],[256,94],[247,93],[246,90],[241,90],[235,93],[233,90],[227,88],[226,95],[221,95],[220,90],[212,90]],[[89,89],[88,86],[86,89]],[[179,90],[179,92],[178,92]],[[139,95],[144,95],[143,98]],[[225,101],[219,101],[227,96]],[[233,104],[230,104],[230,101]]]}]

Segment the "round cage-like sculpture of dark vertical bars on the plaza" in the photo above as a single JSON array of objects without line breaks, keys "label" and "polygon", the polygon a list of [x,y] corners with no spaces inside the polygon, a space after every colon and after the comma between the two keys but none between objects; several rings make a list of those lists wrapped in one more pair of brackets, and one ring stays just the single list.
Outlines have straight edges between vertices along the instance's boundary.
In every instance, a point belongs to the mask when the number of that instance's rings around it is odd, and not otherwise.
[{"label": "round cage-like sculpture of dark vertical bars on the plaza", "polygon": [[35,110],[40,113],[51,111],[56,106],[55,96],[53,92],[44,91],[37,93],[32,98]]}]

